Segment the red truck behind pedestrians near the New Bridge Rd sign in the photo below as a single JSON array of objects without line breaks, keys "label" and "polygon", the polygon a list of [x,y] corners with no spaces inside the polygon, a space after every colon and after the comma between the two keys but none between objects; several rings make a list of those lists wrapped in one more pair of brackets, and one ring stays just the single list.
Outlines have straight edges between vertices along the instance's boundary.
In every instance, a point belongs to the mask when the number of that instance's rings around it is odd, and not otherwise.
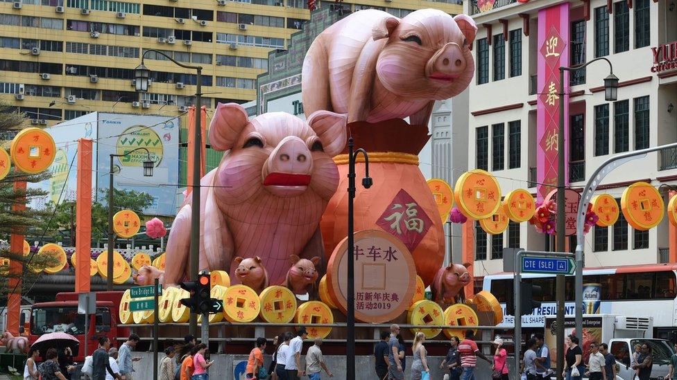
[{"label": "red truck behind pedestrians near the New Bridge Rd sign", "polygon": [[[54,302],[40,302],[31,308],[28,343],[33,344],[42,334],[65,332],[78,338],[80,350],[74,361],[84,361],[98,347],[98,338],[108,336],[111,347],[118,347],[117,337],[128,336],[129,328],[119,325],[119,307],[122,291],[96,292],[96,314],[89,320],[87,332],[87,353],[85,354],[85,316],[78,314],[78,293],[64,292],[56,295]],[[21,314],[20,330],[25,325],[25,314]]]}]

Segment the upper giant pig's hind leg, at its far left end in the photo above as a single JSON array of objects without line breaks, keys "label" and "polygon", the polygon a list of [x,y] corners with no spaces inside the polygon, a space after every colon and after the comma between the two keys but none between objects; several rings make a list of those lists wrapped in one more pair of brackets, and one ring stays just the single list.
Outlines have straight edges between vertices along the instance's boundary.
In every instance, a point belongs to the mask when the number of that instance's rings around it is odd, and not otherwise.
[{"label": "upper giant pig's hind leg, at its far left end", "polygon": [[332,111],[329,101],[329,57],[322,36],[311,44],[303,61],[301,72],[303,112]]}]

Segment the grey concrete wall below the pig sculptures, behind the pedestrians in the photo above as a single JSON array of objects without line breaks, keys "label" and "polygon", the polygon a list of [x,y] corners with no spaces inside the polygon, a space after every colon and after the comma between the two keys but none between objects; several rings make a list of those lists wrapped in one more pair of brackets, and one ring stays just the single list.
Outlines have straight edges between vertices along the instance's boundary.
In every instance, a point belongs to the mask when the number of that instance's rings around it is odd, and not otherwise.
[{"label": "grey concrete wall below the pig sculptures, behind the pedestrians", "polygon": [[[134,363],[134,368],[136,370],[134,380],[153,380],[153,353],[152,352],[135,352],[134,356],[142,357],[141,361]],[[160,359],[162,361],[164,354],[160,354]],[[302,357],[303,359],[303,357]],[[431,356],[429,357],[429,368],[431,370],[432,379],[442,379],[443,372],[439,370],[440,363],[443,361],[441,356]],[[246,355],[218,355],[212,354],[212,360],[214,360],[214,365],[212,368],[209,368],[209,376],[212,379],[234,379],[233,377],[233,363],[237,365],[239,361],[246,361]],[[508,363],[511,363],[510,358],[508,358]],[[270,364],[271,356],[266,355],[266,368]],[[345,375],[345,357],[343,356],[325,356],[325,361],[327,367],[330,371],[334,373],[334,379],[348,379]],[[405,372],[406,379],[409,379],[409,369],[411,368],[411,356],[406,358],[407,370]],[[305,361],[304,361],[305,363]],[[491,368],[481,359],[478,359],[477,369],[475,370],[476,379],[491,379]],[[374,357],[373,356],[357,356],[355,368],[357,369],[356,380],[374,380],[376,379],[376,374],[374,372]],[[508,364],[508,368],[511,370],[511,379],[513,377],[513,368]],[[323,379],[327,377],[323,376]],[[244,379],[244,377],[242,377]],[[239,379],[235,379],[239,380]]]}]

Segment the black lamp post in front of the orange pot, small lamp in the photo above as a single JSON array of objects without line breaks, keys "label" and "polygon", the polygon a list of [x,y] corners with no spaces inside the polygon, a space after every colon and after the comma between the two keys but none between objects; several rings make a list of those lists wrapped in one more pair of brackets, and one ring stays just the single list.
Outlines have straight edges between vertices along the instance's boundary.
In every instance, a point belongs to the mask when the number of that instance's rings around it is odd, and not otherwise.
[{"label": "black lamp post in front of the orange pot, small lamp", "polygon": [[364,156],[364,178],[362,186],[366,189],[372,186],[372,179],[369,177],[369,156],[366,150],[359,148],[353,152],[352,137],[348,138],[348,315],[345,318],[345,325],[348,330],[346,336],[345,364],[346,378],[355,379],[355,249],[354,249],[354,212],[353,202],[355,199],[355,161],[361,153]]}]

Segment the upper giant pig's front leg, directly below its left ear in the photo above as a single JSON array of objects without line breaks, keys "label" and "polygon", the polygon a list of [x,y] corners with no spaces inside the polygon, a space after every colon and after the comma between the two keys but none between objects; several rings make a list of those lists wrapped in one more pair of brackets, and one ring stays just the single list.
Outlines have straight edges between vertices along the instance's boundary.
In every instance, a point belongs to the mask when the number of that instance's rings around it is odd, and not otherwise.
[{"label": "upper giant pig's front leg, directly below its left ear", "polygon": [[369,116],[371,91],[376,78],[376,62],[387,41],[387,38],[377,41],[369,39],[362,48],[352,74],[348,123],[367,120]]}]

